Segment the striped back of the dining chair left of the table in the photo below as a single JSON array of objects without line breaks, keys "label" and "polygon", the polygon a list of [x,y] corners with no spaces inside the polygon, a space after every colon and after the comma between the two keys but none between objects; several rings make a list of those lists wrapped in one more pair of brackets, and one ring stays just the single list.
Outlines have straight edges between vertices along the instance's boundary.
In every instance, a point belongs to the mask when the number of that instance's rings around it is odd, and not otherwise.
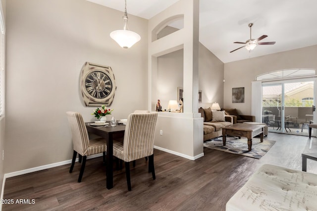
[{"label": "striped back of the dining chair left of the table", "polygon": [[83,117],[78,112],[66,112],[71,128],[74,150],[82,156],[87,155],[89,136]]}]

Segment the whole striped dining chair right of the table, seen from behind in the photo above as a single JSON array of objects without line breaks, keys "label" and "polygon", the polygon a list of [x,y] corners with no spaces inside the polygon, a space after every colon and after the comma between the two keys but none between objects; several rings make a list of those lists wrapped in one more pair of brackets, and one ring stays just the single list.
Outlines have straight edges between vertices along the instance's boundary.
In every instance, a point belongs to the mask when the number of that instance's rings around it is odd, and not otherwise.
[{"label": "whole striped dining chair right of the table, seen from behind", "polygon": [[149,172],[155,179],[154,136],[158,113],[130,114],[122,142],[113,143],[113,156],[124,161],[128,190],[131,191],[130,162],[149,157]]}]

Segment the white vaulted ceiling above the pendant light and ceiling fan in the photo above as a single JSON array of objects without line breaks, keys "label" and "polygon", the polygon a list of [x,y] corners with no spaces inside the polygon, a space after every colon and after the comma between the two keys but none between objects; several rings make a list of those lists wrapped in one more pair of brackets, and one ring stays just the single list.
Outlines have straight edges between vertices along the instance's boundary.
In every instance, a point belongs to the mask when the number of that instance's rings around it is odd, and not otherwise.
[{"label": "white vaulted ceiling above the pendant light and ceiling fan", "polygon": [[[124,0],[89,0],[120,11]],[[150,19],[177,0],[127,0],[127,12]],[[200,0],[199,40],[222,62],[232,62],[317,44],[316,0]],[[262,35],[254,50],[241,48],[250,39]],[[133,29],[131,29],[133,30]]]}]

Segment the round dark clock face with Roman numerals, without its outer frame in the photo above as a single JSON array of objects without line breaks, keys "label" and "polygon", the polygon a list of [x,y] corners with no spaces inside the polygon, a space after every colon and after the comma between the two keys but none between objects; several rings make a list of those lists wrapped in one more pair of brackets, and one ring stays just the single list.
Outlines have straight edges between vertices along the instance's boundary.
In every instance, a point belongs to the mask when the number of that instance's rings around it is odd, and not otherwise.
[{"label": "round dark clock face with Roman numerals, without its outer frame", "polygon": [[103,99],[111,93],[112,83],[105,73],[94,71],[86,77],[85,88],[90,96]]}]

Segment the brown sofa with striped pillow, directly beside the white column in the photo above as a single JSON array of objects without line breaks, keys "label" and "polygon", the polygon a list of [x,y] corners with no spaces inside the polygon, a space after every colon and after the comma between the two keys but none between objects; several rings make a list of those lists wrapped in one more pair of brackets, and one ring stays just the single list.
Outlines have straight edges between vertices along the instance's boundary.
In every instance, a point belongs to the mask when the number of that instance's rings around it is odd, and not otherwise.
[{"label": "brown sofa with striped pillow, directly beside the white column", "polygon": [[233,116],[225,115],[224,111],[213,112],[214,114],[221,114],[220,118],[217,117],[219,119],[217,119],[215,115],[213,115],[212,118],[211,108],[199,108],[199,113],[201,114],[201,117],[204,118],[204,141],[221,136],[222,127],[230,126],[233,124]]}]

